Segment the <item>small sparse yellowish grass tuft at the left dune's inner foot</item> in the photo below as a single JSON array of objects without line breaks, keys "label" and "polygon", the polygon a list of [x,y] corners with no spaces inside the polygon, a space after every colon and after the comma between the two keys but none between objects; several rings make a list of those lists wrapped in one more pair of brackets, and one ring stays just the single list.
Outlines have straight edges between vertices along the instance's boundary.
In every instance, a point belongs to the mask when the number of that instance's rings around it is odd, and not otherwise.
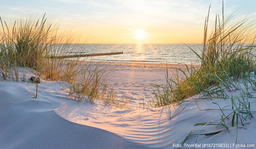
[{"label": "small sparse yellowish grass tuft at the left dune's inner foot", "polygon": [[100,99],[106,104],[110,103],[108,102],[109,98],[116,100],[112,88],[105,82],[110,74],[110,69],[107,69],[104,63],[89,62],[86,65],[80,65],[78,69],[80,69],[79,74],[72,82],[69,82],[69,97],[73,97],[79,102],[86,98],[92,103],[95,99]]}]

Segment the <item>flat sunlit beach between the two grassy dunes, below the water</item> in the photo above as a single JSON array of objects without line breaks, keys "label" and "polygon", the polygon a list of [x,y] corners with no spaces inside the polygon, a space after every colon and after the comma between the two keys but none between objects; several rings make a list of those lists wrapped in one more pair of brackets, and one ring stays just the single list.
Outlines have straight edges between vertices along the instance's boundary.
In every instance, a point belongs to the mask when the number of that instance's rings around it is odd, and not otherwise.
[{"label": "flat sunlit beach between the two grassy dunes, below the water", "polygon": [[[85,62],[89,63],[89,62]],[[97,62],[94,62],[97,63]],[[92,64],[94,64],[92,63]],[[176,73],[176,69],[185,70],[184,64],[161,64],[161,63],[133,63],[133,62],[101,62],[103,68],[110,69],[111,72],[106,82],[117,93],[117,98],[125,101],[126,108],[134,109],[148,107],[148,101],[153,98],[155,84],[166,83],[165,76]],[[190,67],[190,65],[187,65]],[[157,76],[157,77],[156,77]],[[144,103],[143,103],[144,102]],[[144,105],[144,106],[142,106]]]}]

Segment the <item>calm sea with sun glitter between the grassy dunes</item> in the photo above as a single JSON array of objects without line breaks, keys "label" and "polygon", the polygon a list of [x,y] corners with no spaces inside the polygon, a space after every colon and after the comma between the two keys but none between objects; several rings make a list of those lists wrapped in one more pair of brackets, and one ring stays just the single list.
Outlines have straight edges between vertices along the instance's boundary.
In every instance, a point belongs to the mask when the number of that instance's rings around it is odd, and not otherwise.
[{"label": "calm sea with sun glitter between the grassy dunes", "polygon": [[[201,54],[202,44],[187,44]],[[107,62],[142,62],[142,63],[169,63],[191,64],[200,60],[185,44],[81,44],[87,53],[123,52],[119,55],[105,55],[89,57],[90,60]]]}]

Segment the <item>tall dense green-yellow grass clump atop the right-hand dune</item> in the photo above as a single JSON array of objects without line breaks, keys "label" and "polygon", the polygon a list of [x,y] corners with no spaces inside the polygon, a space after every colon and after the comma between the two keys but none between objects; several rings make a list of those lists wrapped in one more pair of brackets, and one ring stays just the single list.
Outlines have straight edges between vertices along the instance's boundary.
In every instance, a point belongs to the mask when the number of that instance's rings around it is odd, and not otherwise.
[{"label": "tall dense green-yellow grass clump atop the right-hand dune", "polygon": [[154,85],[155,106],[176,103],[199,93],[211,96],[210,92],[218,90],[212,90],[215,85],[231,85],[231,81],[256,69],[255,21],[243,18],[233,23],[233,16],[235,14],[224,19],[224,14],[216,15],[212,31],[208,35],[208,13],[202,53],[196,53],[188,47],[200,62],[187,66],[185,71],[176,69],[177,73],[171,78],[167,71],[166,83]]}]

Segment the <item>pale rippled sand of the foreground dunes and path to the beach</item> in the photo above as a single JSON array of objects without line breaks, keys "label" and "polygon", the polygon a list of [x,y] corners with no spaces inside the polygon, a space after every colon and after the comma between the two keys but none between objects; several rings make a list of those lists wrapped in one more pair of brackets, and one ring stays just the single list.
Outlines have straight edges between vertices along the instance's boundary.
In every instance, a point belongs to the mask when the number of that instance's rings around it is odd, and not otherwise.
[{"label": "pale rippled sand of the foreground dunes and path to the beach", "polygon": [[[110,64],[109,64],[110,65]],[[164,67],[116,67],[113,85],[123,88],[123,92],[140,94],[147,91],[147,83],[164,80]],[[150,65],[150,64],[148,64]],[[21,73],[20,73],[21,74]],[[253,77],[252,77],[253,78]],[[220,107],[231,109],[230,99],[201,99],[197,104],[193,98],[181,105],[164,106],[149,110],[141,107],[137,101],[126,108],[110,108],[97,102],[77,103],[66,98],[60,83],[41,80],[38,97],[33,98],[30,90],[34,83],[0,81],[0,148],[174,148],[188,135],[198,122],[220,121]],[[143,83],[146,84],[143,86]],[[127,88],[126,88],[127,87]],[[29,89],[30,90],[29,90]],[[148,89],[150,90],[150,88]],[[250,87],[251,94],[256,96]],[[226,93],[238,95],[238,91]],[[147,94],[147,93],[145,93]],[[133,97],[136,99],[136,96]],[[199,96],[199,95],[198,95]],[[194,98],[197,98],[195,96]],[[256,105],[251,100],[251,111],[255,117]],[[139,99],[138,99],[139,101]],[[187,105],[187,106],[186,106]],[[198,106],[201,110],[199,110]],[[186,108],[180,112],[181,106]],[[170,112],[171,111],[171,112]],[[179,114],[177,114],[180,112]],[[230,111],[224,111],[229,114]],[[175,115],[170,120],[170,114]],[[239,124],[237,144],[256,144],[256,122],[254,117],[247,118],[245,126]],[[226,120],[228,132],[222,126],[206,126],[201,133],[224,131],[212,136],[199,136],[197,144],[229,144],[236,140],[236,127],[231,127],[231,119]],[[194,128],[198,133],[201,126]],[[194,144],[197,136],[189,137],[187,144]],[[184,146],[183,146],[184,147]],[[202,148],[202,147],[199,147]],[[217,148],[217,147],[214,147]],[[244,148],[244,147],[232,147]]]}]

